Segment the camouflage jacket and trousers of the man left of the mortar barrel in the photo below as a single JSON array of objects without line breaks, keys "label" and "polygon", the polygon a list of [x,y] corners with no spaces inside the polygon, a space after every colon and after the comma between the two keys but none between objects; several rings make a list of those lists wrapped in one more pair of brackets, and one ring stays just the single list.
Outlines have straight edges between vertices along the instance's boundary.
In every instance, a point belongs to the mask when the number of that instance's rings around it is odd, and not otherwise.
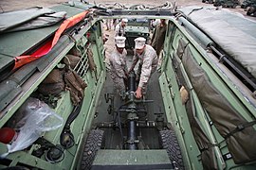
[{"label": "camouflage jacket and trousers of the man left of the mortar barrel", "polygon": [[119,94],[125,92],[124,78],[126,78],[125,73],[128,73],[126,55],[127,51],[125,49],[120,54],[117,48],[115,48],[109,59],[110,76],[114,82],[115,92]]}]

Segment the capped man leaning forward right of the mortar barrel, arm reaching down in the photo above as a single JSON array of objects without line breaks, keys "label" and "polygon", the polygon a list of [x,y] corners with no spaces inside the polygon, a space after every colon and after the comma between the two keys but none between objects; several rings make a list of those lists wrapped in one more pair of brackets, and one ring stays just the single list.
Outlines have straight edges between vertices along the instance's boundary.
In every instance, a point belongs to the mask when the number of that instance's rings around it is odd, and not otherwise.
[{"label": "capped man leaning forward right of the mortar barrel, arm reaching down", "polygon": [[148,81],[157,68],[158,58],[155,49],[151,45],[145,44],[146,39],[139,37],[135,42],[136,55],[134,56],[133,64],[129,72],[135,68],[137,61],[139,60],[137,71],[137,75],[139,75],[139,82],[136,96],[137,98],[140,98],[142,93],[146,93]]}]

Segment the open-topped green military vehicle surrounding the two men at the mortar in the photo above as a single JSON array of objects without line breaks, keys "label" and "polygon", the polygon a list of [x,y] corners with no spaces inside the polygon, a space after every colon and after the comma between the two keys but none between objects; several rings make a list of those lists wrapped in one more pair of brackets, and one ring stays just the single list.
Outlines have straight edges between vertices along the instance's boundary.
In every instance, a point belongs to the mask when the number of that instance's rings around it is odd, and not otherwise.
[{"label": "open-topped green military vehicle surrounding the two men at the mortar", "polygon": [[[214,7],[113,6],[0,14],[0,168],[255,169],[256,23]],[[102,21],[121,18],[167,22],[141,99],[137,69],[121,94],[109,75]]]}]

